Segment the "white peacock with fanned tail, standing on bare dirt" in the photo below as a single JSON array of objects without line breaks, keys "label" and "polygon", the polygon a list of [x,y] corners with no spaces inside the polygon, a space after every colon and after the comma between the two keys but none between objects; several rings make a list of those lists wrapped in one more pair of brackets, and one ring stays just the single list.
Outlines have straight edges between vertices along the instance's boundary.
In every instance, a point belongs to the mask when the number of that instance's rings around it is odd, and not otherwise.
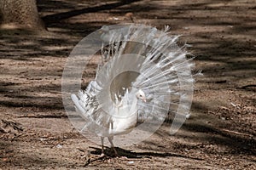
[{"label": "white peacock with fanned tail, standing on bare dirt", "polygon": [[[158,31],[141,25],[102,28],[102,62],[96,78],[71,95],[85,122],[81,131],[101,137],[102,155],[105,137],[113,147],[113,136],[131,133],[139,122],[164,122],[170,106],[177,122],[189,114],[192,64],[185,45],[177,46],[178,36],[167,34],[167,28]],[[172,124],[174,131],[179,126]]]}]

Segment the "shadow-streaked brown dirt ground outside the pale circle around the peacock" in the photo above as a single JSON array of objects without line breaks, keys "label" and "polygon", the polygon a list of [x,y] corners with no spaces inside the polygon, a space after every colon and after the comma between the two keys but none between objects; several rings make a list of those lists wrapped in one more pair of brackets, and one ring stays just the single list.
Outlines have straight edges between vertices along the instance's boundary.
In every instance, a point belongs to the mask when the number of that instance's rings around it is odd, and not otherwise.
[{"label": "shadow-streaked brown dirt ground outside the pale circle around the peacock", "polygon": [[[47,32],[0,31],[0,169],[256,169],[256,1],[129,2],[40,0]],[[204,76],[175,135],[164,125],[141,144],[117,148],[127,159],[99,159],[101,146],[63,109],[62,71],[90,32],[131,22],[182,34]]]}]

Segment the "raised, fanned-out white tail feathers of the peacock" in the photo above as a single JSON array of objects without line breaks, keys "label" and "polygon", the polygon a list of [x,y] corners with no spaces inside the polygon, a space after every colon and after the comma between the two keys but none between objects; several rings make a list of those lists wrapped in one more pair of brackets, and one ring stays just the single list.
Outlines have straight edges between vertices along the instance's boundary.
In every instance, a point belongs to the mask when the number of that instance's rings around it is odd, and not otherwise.
[{"label": "raised, fanned-out white tail feathers of the peacock", "polygon": [[[186,51],[188,45],[179,47],[179,36],[169,36],[168,30],[168,26],[165,31],[158,31],[142,25],[108,30],[105,34],[108,35],[108,53],[104,55],[108,67],[102,69],[106,74],[99,84],[113,80],[122,71],[137,71],[139,74],[129,82],[131,88],[142,89],[151,98],[147,104],[139,103],[143,119],[154,117],[163,120],[171,111],[175,114],[171,133],[176,133],[189,115],[194,83],[191,69],[194,65],[192,59],[186,58],[189,55]],[[126,58],[125,54],[133,55]],[[127,75],[121,77],[121,81],[125,82],[125,77]]]}]

